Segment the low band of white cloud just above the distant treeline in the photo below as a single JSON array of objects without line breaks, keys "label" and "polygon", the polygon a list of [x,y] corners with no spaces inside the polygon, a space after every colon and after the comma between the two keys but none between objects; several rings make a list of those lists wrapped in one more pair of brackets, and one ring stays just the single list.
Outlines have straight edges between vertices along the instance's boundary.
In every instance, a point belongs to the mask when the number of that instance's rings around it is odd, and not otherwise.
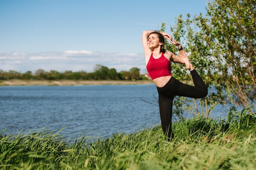
[{"label": "low band of white cloud just above the distant treeline", "polygon": [[67,50],[63,52],[19,53],[0,52],[0,69],[4,71],[35,72],[56,70],[64,72],[93,72],[96,64],[115,68],[117,72],[137,67],[145,68],[144,54],[139,53],[101,53],[87,50]]}]

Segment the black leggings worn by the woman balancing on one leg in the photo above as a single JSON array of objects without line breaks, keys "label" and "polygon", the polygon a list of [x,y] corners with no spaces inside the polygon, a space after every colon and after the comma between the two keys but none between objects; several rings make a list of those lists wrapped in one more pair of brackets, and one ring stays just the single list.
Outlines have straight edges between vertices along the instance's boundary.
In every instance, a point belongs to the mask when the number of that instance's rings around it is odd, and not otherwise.
[{"label": "black leggings worn by the woman balancing on one leg", "polygon": [[191,71],[191,76],[195,86],[186,85],[177,81],[173,76],[164,87],[157,87],[159,94],[159,111],[161,125],[168,141],[173,138],[172,132],[172,115],[173,115],[173,98],[174,96],[184,96],[190,98],[204,98],[207,96],[207,86],[202,81],[196,70]]}]

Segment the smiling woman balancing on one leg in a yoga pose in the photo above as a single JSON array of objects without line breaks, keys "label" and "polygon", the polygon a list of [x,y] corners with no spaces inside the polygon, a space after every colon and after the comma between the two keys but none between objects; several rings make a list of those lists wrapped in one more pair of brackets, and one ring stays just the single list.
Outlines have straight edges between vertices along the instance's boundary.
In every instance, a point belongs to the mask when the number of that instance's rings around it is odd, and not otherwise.
[{"label": "smiling woman balancing on one leg in a yoga pose", "polygon": [[[177,46],[180,56],[173,54],[173,52],[165,51],[164,38]],[[146,68],[148,74],[157,86],[161,125],[168,141],[173,139],[171,119],[173,114],[174,96],[203,98],[207,96],[208,93],[207,86],[190,63],[182,46],[179,42],[175,40],[173,41],[172,39],[170,34],[159,31],[143,31],[142,34]],[[186,64],[186,69],[190,70],[195,86],[186,85],[177,81],[171,75],[170,61]]]}]

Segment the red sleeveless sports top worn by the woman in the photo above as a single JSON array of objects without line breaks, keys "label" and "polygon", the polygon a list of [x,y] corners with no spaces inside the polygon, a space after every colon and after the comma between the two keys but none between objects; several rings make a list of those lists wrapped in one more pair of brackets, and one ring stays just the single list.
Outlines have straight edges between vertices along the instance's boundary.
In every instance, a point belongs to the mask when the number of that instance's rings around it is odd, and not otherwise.
[{"label": "red sleeveless sports top worn by the woman", "polygon": [[163,53],[158,59],[154,59],[152,53],[146,68],[152,80],[162,76],[171,76],[171,63]]}]

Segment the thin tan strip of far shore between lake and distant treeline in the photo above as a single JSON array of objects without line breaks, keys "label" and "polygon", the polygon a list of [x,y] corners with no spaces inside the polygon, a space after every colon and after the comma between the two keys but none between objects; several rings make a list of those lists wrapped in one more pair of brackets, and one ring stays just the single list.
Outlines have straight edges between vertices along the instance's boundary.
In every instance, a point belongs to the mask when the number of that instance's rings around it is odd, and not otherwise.
[{"label": "thin tan strip of far shore between lake and distant treeline", "polygon": [[1,80],[0,86],[19,85],[142,85],[152,80]]}]

